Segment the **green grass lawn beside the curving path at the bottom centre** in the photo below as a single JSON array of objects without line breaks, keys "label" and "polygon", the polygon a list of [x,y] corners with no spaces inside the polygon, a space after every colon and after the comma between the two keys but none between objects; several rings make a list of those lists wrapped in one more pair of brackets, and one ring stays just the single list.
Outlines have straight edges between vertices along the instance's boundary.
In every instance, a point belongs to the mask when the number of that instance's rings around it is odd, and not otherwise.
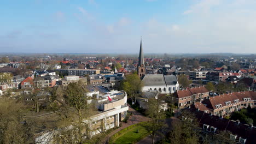
[{"label": "green grass lawn beside the curving path at the bottom centre", "polygon": [[[136,133],[137,129],[139,130],[139,133]],[[148,130],[146,129],[145,126],[138,125],[137,127],[124,131],[124,134],[118,137],[113,143],[115,144],[132,143],[132,141],[137,140],[139,137],[144,136],[147,133],[148,133]]]}]

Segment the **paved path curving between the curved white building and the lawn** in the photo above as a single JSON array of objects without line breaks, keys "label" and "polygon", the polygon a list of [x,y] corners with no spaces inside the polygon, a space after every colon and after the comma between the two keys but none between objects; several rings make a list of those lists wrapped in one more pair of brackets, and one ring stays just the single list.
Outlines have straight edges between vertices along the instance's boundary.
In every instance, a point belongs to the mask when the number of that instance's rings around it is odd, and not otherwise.
[{"label": "paved path curving between the curved white building and the lawn", "polygon": [[[129,106],[129,105],[128,105]],[[127,120],[127,123],[124,123],[124,122],[120,122],[122,124],[122,127],[118,128],[118,129],[115,129],[114,131],[112,131],[110,134],[108,134],[104,140],[103,140],[103,143],[108,143],[108,139],[114,135],[115,133],[117,133],[118,131],[126,128],[126,127],[129,127],[130,125],[132,124],[136,124],[136,123],[140,123],[140,122],[146,122],[149,120],[148,117],[144,117],[141,113],[139,113],[138,111],[136,111],[135,109],[132,109],[130,106],[129,106],[129,112],[132,113],[132,116],[129,117],[129,119]]]}]

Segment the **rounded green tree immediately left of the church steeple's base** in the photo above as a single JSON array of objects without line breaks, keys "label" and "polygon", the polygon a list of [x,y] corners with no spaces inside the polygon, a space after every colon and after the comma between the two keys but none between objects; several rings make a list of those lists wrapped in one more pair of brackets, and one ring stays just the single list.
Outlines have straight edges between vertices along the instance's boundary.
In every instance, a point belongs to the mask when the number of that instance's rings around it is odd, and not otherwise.
[{"label": "rounded green tree immediately left of the church steeple's base", "polygon": [[136,102],[136,94],[141,92],[142,85],[141,79],[139,79],[136,73],[133,73],[126,75],[126,79],[121,82],[120,89],[123,89],[128,94],[133,103]]}]

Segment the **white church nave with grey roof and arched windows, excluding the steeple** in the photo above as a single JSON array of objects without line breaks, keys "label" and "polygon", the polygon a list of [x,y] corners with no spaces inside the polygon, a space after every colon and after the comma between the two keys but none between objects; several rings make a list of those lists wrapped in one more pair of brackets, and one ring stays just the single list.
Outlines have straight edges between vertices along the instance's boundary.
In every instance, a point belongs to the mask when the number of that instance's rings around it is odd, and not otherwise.
[{"label": "white church nave with grey roof and arched windows, excluding the steeple", "polygon": [[179,89],[176,75],[144,75],[142,91],[159,91],[162,94],[171,94]]}]

